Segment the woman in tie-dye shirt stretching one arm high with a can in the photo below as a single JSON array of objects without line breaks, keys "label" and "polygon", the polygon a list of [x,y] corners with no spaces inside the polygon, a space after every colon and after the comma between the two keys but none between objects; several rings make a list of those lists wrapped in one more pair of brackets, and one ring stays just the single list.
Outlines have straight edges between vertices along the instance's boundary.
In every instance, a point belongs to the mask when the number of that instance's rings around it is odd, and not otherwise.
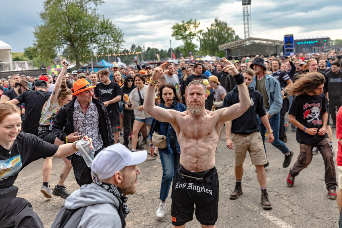
[{"label": "woman in tie-dye shirt stretching one arm high with a can", "polygon": [[[45,102],[42,108],[38,129],[39,138],[43,139],[45,142],[58,146],[63,145],[63,142],[59,140],[52,132],[52,124],[54,122],[56,113],[60,110],[60,108],[68,104],[73,99],[73,96],[71,95],[71,90],[67,88],[66,82],[62,81],[64,72],[67,69],[66,65],[64,65],[64,61],[66,61],[66,59],[63,59],[62,61],[63,68],[56,80],[56,84],[51,93],[51,96],[48,99],[48,101]],[[52,195],[66,199],[70,195],[70,193],[66,190],[66,187],[63,184],[73,166],[71,166],[71,162],[67,158],[62,158],[62,160],[64,162],[64,166],[62,168],[57,185],[53,189]],[[52,198],[51,191],[49,188],[51,169],[52,157],[47,157],[45,158],[43,164],[43,185],[40,189],[40,191],[46,198]]]}]

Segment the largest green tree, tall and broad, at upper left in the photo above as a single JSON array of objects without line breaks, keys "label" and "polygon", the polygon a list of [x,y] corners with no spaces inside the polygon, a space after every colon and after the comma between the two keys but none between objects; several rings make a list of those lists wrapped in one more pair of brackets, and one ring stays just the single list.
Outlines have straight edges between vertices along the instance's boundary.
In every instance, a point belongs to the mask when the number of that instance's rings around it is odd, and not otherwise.
[{"label": "largest green tree, tall and broad, at upper left", "polygon": [[69,61],[89,61],[92,48],[98,53],[113,54],[123,40],[121,29],[110,19],[96,13],[102,0],[46,0],[40,12],[42,25],[34,30],[34,47],[42,58],[63,52]]}]

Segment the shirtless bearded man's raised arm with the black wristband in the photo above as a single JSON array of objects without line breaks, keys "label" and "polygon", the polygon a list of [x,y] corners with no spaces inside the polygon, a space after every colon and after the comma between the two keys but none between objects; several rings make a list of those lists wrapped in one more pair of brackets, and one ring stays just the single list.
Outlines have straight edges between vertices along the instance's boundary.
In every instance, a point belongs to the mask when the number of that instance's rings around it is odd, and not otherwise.
[{"label": "shirtless bearded man's raised arm with the black wristband", "polygon": [[241,116],[247,109],[252,105],[251,98],[249,97],[249,92],[247,90],[247,86],[244,83],[244,76],[239,73],[239,71],[235,68],[234,64],[229,62],[225,57],[222,58],[222,61],[227,63],[227,65],[222,69],[225,72],[228,72],[233,76],[237,88],[239,90],[239,99],[240,102],[232,105],[229,108],[221,108],[215,112],[218,112],[220,115],[220,120],[227,122],[228,120],[234,120]]}]

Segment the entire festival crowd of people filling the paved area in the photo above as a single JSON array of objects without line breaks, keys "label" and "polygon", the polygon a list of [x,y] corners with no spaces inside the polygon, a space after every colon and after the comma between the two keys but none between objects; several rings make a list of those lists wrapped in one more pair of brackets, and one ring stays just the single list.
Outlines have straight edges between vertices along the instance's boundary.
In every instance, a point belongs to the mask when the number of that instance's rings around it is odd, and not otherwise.
[{"label": "entire festival crowd of people filling the paved area", "polygon": [[[292,187],[295,177],[320,152],[327,196],[337,199],[341,210],[342,193],[336,192],[337,187],[342,189],[340,54],[256,55],[160,66],[139,65],[135,60],[133,68],[114,63],[97,72],[67,72],[64,59],[56,76],[2,78],[0,128],[6,134],[0,135],[0,201],[11,207],[0,209],[6,215],[0,222],[6,219],[5,227],[25,223],[20,227],[42,227],[30,203],[16,197],[18,188],[13,183],[26,165],[44,158],[40,191],[47,198],[66,199],[52,227],[124,227],[129,213],[126,195],[135,193],[140,173],[136,165],[148,155],[159,156],[163,170],[156,216],[165,214],[172,183],[172,225],[185,227],[195,212],[201,225],[214,227],[219,214],[215,151],[223,127],[226,146],[234,152],[236,184],[229,198],[242,195],[248,151],[262,207],[272,209],[265,138],[283,154],[282,167],[289,167],[293,151],[286,146],[288,123],[296,131],[299,157],[284,177],[286,184]],[[332,128],[337,128],[340,139],[339,185]],[[81,139],[89,140],[95,158],[91,167],[76,146]],[[139,151],[147,144],[148,152]],[[51,193],[52,157],[61,157],[64,166]],[[80,186],[73,193],[64,186],[71,168]]]}]

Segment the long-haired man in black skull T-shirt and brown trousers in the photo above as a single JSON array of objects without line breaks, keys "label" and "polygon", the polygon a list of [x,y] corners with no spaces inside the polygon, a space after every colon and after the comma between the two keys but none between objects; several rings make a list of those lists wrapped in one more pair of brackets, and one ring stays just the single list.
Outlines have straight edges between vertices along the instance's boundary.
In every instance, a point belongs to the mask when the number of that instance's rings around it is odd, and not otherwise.
[{"label": "long-haired man in black skull T-shirt and brown trousers", "polygon": [[296,139],[300,151],[297,161],[289,171],[286,183],[293,187],[295,176],[311,163],[312,148],[316,146],[324,160],[324,180],[328,198],[336,199],[336,171],[326,133],[328,112],[326,96],[323,93],[324,82],[325,78],[321,73],[306,73],[288,90],[290,95],[295,96],[289,111],[289,121],[297,127]]}]

